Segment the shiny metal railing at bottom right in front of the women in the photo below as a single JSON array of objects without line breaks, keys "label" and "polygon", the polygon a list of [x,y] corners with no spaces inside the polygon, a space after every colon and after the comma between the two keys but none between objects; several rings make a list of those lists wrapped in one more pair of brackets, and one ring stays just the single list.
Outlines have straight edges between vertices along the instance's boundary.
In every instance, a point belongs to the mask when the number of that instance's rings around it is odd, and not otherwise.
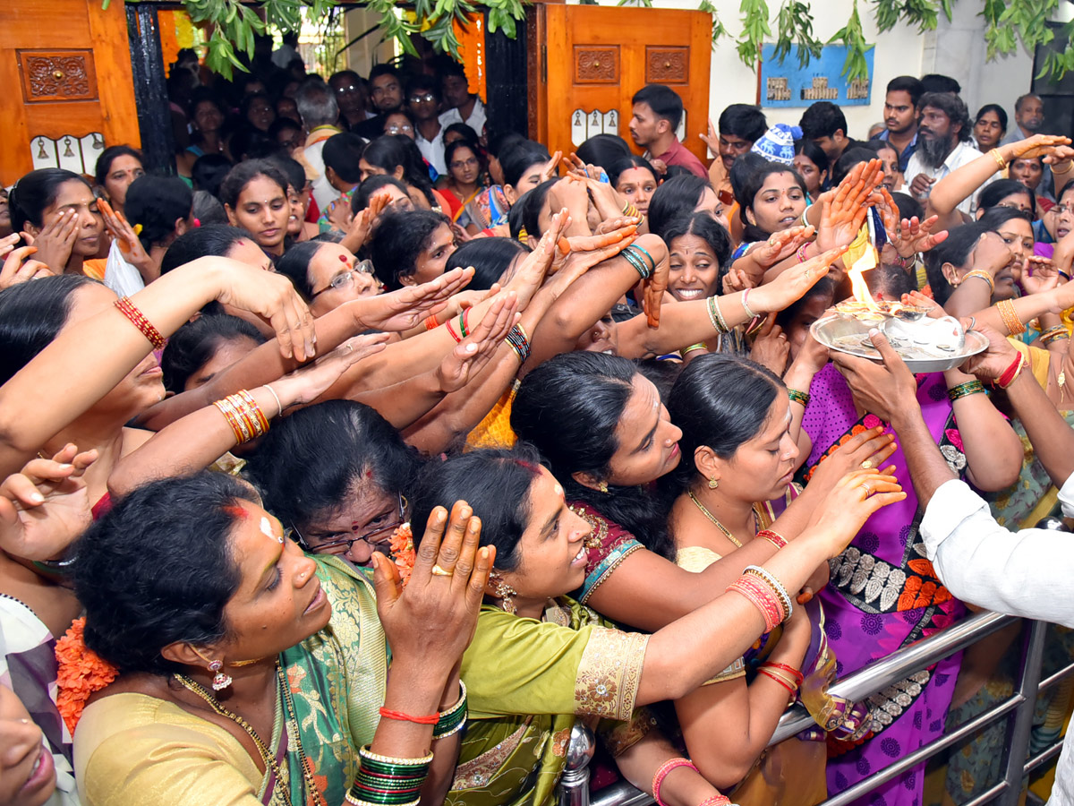
[{"label": "shiny metal railing at bottom right in front of the women", "polygon": [[[1045,518],[1037,527],[1066,531],[1062,521],[1055,518]],[[1047,679],[1041,680],[1041,663],[1047,623],[997,613],[976,614],[894,654],[873,661],[857,672],[837,680],[829,689],[832,694],[845,697],[851,702],[862,701],[909,675],[920,672],[1018,621],[1022,621],[1026,629],[1022,631],[1020,675],[1014,693],[1010,697],[956,726],[950,733],[923,745],[892,764],[858,781],[819,806],[845,806],[845,804],[852,803],[896,776],[958,745],[977,731],[1001,719],[1008,719],[1006,742],[1004,743],[1003,780],[961,806],[981,806],[986,803],[1016,806],[1024,781],[1031,773],[1058,755],[1063,744],[1063,737],[1060,736],[1053,745],[1034,757],[1028,758],[1037,694],[1057,685],[1065,677],[1074,675],[1074,663],[1071,663]],[[790,738],[813,724],[813,719],[806,709],[801,706],[795,706],[780,719],[769,746]],[[648,806],[653,803],[651,796],[626,781],[619,781],[606,787],[591,798],[589,762],[593,757],[594,749],[595,738],[592,731],[580,723],[576,724],[570,737],[566,772],[560,780],[560,806]]]}]

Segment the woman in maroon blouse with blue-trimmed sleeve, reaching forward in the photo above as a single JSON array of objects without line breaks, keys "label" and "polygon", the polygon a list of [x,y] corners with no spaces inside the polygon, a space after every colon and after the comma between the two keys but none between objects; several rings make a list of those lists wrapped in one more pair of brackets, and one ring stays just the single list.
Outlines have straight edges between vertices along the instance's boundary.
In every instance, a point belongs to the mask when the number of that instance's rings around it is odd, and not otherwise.
[{"label": "woman in maroon blouse with blue-trimmed sleeve, reaching forward", "polygon": [[[546,361],[519,387],[511,427],[540,451],[574,512],[592,526],[585,577],[575,598],[607,618],[658,630],[711,601],[751,562],[766,562],[775,552],[767,541],[753,541],[734,561],[700,574],[670,560],[670,501],[656,483],[682,458],[681,430],[633,361],[598,352]],[[838,461],[773,529],[793,542],[838,480],[884,448],[873,436],[847,441]]]}]

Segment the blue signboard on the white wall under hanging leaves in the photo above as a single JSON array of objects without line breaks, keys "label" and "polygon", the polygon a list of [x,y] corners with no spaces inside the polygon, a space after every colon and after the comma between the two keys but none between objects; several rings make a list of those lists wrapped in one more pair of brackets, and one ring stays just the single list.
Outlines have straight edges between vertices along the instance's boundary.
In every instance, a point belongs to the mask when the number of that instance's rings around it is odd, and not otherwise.
[{"label": "blue signboard on the white wall under hanging leaves", "polygon": [[843,72],[846,45],[825,45],[821,58],[801,68],[795,48],[781,64],[773,56],[775,45],[765,45],[760,62],[761,106],[809,106],[815,101],[831,101],[840,106],[869,104],[872,88],[873,51],[866,53],[869,77],[847,82]]}]

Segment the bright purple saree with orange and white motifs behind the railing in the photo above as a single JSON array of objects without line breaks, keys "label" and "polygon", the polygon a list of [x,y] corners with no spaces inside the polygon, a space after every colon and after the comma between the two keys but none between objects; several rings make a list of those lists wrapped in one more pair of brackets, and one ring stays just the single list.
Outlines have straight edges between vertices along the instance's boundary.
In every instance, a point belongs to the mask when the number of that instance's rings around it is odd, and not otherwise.
[{"label": "bright purple saree with orange and white motifs behind the railing", "polygon": [[[925,422],[948,464],[961,475],[966,456],[943,375],[919,375],[917,380]],[[810,392],[812,400],[802,419],[813,441],[803,466],[807,477],[842,442],[881,424],[873,415],[858,417],[846,382],[830,363],[817,373]],[[827,615],[825,629],[839,659],[839,676],[934,633],[966,613],[925,557],[917,536],[917,496],[905,477],[901,448],[888,463],[898,469],[906,499],[866,521],[850,547],[831,560],[831,578],[821,593]],[[829,794],[847,789],[943,733],[960,661],[961,653],[869,697],[872,730],[866,739],[847,743],[829,738]],[[919,806],[924,779],[923,764],[857,803]]]}]

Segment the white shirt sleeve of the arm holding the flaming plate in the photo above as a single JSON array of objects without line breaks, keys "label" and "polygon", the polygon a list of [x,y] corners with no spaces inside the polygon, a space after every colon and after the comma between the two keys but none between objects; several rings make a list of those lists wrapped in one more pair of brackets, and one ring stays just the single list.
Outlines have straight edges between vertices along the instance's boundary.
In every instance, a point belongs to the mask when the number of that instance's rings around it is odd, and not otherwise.
[{"label": "white shirt sleeve of the arm holding the flaming plate", "polygon": [[[1074,513],[1074,476],[1060,492]],[[1074,534],[1011,532],[963,481],[937,490],[920,534],[937,576],[958,599],[997,613],[1074,628]]]}]

